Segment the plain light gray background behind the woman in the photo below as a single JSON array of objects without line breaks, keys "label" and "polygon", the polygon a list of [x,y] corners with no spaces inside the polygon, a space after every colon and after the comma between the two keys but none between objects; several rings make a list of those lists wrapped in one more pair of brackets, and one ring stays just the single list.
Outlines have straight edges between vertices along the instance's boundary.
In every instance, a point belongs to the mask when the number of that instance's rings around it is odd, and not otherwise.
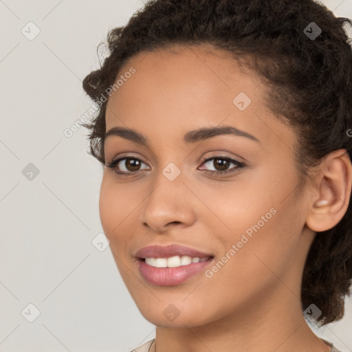
[{"label": "plain light gray background behind the woman", "polygon": [[[352,18],[352,0],[322,3]],[[87,154],[87,130],[63,133],[91,107],[82,80],[98,68],[98,43],[142,5],[0,1],[1,352],[126,352],[155,337],[109,248],[92,243],[102,232],[102,168]],[[21,32],[30,21],[41,31],[32,41]],[[32,180],[22,172],[30,163],[39,169]],[[40,311],[33,322],[29,304]],[[352,299],[346,304],[343,320],[312,329],[352,351]]]}]

